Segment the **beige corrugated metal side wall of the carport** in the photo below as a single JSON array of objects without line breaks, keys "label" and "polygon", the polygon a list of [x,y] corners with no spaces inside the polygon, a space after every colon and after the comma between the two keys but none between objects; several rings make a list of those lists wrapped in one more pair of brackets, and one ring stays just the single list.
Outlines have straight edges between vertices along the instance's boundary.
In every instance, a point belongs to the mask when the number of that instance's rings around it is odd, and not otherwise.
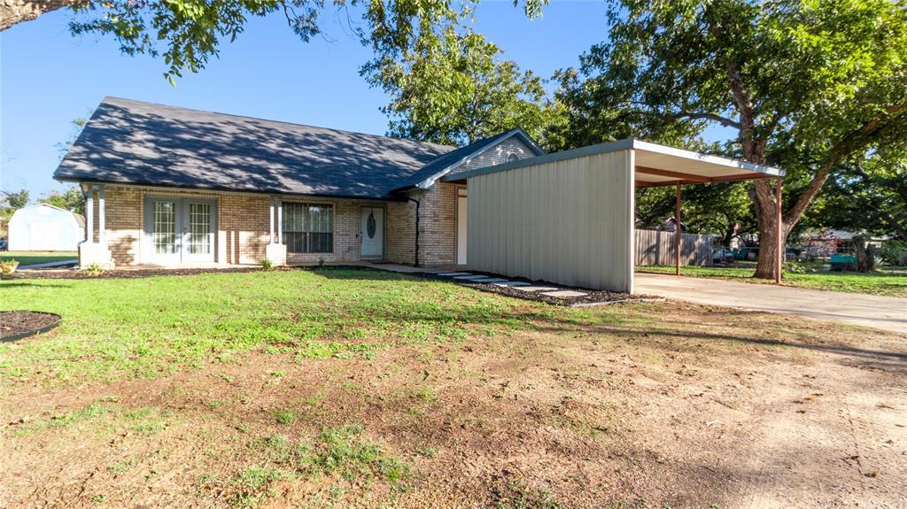
[{"label": "beige corrugated metal side wall of the carport", "polygon": [[467,266],[632,292],[632,168],[619,150],[469,178]]}]

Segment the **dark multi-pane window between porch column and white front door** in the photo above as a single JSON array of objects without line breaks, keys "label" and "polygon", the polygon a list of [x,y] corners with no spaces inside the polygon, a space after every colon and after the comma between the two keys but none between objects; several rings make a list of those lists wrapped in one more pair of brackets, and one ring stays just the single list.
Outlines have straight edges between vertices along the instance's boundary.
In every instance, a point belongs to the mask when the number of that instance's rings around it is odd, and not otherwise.
[{"label": "dark multi-pane window between porch column and white front door", "polygon": [[334,251],[334,207],[285,203],[283,238],[289,253]]}]

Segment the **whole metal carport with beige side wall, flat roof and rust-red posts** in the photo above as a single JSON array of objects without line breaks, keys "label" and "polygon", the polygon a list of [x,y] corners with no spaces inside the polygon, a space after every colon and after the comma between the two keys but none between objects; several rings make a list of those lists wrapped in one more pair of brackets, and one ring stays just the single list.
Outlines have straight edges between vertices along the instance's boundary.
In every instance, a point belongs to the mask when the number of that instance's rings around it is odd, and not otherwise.
[{"label": "whole metal carport with beige side wall, flat roof and rust-red posts", "polygon": [[[677,187],[679,225],[682,185],[775,178],[780,216],[782,177],[779,168],[621,139],[443,179],[466,183],[469,269],[632,293],[636,188]],[[679,274],[679,256],[677,264]]]}]

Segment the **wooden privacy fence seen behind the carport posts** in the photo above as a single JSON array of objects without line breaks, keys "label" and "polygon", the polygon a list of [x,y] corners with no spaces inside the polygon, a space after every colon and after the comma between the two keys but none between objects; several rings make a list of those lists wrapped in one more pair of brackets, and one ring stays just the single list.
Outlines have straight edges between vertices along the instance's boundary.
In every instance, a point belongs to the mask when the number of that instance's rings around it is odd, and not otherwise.
[{"label": "wooden privacy fence seen behind the carport posts", "polygon": [[[681,265],[711,265],[712,235],[680,234]],[[636,264],[675,264],[674,232],[636,230]]]}]

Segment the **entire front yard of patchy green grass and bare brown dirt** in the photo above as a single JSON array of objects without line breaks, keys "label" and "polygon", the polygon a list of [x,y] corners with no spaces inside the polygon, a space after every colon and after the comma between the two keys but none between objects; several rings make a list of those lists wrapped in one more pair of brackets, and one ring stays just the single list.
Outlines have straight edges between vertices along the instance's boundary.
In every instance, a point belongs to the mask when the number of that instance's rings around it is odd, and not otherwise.
[{"label": "entire front yard of patchy green grass and bare brown dirt", "polygon": [[0,281],[2,507],[904,506],[904,336],[369,270]]}]

